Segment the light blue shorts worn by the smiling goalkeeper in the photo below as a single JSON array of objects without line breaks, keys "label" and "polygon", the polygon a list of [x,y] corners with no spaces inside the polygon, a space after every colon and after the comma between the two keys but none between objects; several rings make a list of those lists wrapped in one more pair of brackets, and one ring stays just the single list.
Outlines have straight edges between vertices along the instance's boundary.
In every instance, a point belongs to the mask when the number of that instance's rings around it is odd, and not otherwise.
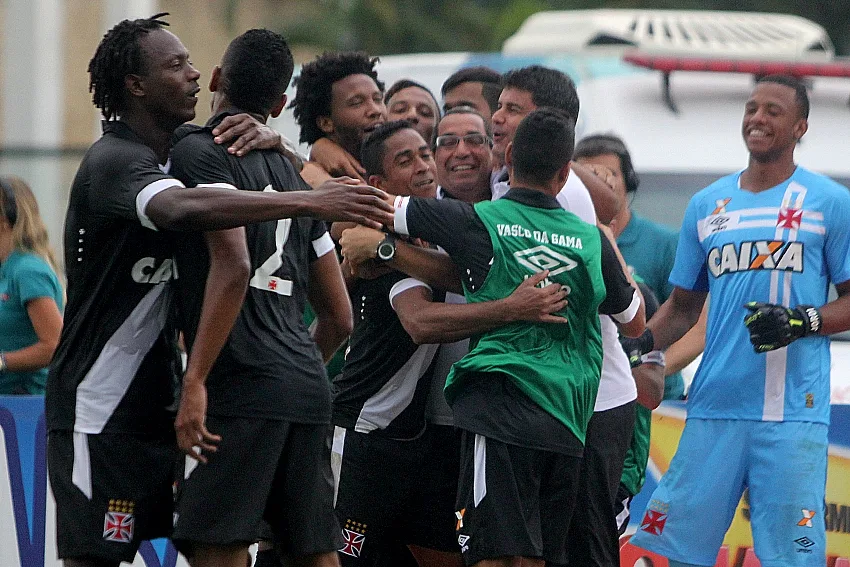
[{"label": "light blue shorts worn by the smiling goalkeeper", "polygon": [[745,489],[762,567],[826,564],[822,423],[688,419],[631,542],[713,566]]}]

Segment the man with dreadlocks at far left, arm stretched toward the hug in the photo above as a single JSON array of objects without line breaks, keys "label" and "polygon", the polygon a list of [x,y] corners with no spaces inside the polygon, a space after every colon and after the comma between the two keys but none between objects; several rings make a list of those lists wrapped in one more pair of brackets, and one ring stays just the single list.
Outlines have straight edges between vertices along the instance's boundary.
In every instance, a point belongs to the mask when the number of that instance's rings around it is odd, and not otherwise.
[{"label": "man with dreadlocks at far left, arm stretched toward the hug", "polygon": [[[122,21],[89,64],[94,104],[106,122],[71,188],[68,305],[46,398],[57,548],[66,567],[132,561],[142,540],[170,532],[178,454],[175,269],[173,239],[159,229],[220,230],[293,216],[372,225],[392,218],[391,207],[377,204],[385,194],[365,185],[252,192],[186,189],[170,177],[172,135],[195,116],[200,75],[164,29],[164,15]],[[226,236],[208,245],[213,259],[234,253],[233,266],[247,262]],[[187,379],[206,376],[244,292],[219,294],[202,307]],[[205,396],[199,403],[206,405]],[[215,450],[219,438],[202,420],[188,425],[197,447]]]}]

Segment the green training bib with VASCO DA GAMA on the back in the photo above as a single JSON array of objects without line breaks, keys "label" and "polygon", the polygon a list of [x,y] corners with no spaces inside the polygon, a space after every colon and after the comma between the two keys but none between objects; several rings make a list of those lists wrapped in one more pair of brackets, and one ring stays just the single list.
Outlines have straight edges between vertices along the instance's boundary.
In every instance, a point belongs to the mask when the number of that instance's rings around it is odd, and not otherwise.
[{"label": "green training bib with VASCO DA GAMA on the back", "polygon": [[545,268],[550,281],[570,290],[569,307],[558,313],[569,323],[513,323],[473,337],[449,373],[446,399],[452,403],[469,373],[501,372],[584,443],[602,368],[600,232],[563,209],[510,199],[478,203],[475,212],[490,235],[493,264],[479,289],[465,286],[467,301],[507,297]]}]

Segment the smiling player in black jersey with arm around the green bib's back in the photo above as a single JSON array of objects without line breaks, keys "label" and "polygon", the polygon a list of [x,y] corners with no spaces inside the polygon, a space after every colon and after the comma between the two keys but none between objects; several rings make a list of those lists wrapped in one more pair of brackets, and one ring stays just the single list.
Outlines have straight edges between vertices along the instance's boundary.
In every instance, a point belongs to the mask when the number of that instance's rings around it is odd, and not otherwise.
[{"label": "smiling player in black jersey with arm around the green bib's back", "polygon": [[[481,117],[474,117],[483,129]],[[483,143],[487,138],[481,136]],[[388,193],[435,194],[434,158],[428,143],[409,123],[395,121],[378,127],[367,137],[361,155],[370,183]],[[344,250],[350,243],[347,236],[357,232],[343,234]],[[379,246],[383,260],[378,269],[390,260],[388,250],[393,246],[388,235]],[[545,311],[542,304],[551,304],[552,310],[562,308],[563,292],[534,288],[540,280],[529,280],[506,300],[441,310],[451,323],[433,342],[468,337],[527,317],[529,312],[539,320],[538,314]],[[388,563],[385,554],[402,543],[410,546],[419,565],[460,565],[454,529],[457,467],[444,494],[442,486],[435,486],[439,481],[434,476],[440,475],[431,475],[434,469],[429,462],[436,454],[451,454],[455,447],[434,447],[431,453],[432,440],[423,435],[437,346],[419,344],[413,338],[417,331],[401,319],[411,310],[443,306],[445,294],[388,268],[376,278],[355,280],[350,291],[356,303],[354,333],[343,373],[334,381],[334,453],[340,467],[337,514],[345,538],[342,564],[398,565]]]}]

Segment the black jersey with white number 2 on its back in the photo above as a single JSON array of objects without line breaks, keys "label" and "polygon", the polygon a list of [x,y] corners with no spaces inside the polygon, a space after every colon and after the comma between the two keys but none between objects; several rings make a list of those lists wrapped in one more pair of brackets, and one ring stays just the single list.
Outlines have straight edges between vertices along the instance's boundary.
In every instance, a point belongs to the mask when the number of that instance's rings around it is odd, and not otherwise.
[{"label": "black jersey with white number 2 on its back", "polygon": [[[309,189],[273,150],[244,157],[213,141],[226,116],[185,133],[172,151],[175,176],[189,186],[253,191]],[[245,227],[251,279],[245,302],[207,378],[208,413],[235,417],[330,422],[330,386],[321,355],[304,324],[310,264],[333,253],[324,222],[288,218]],[[177,282],[187,347],[195,340],[209,271],[201,234],[176,239]],[[214,284],[214,282],[213,282]]]}]

